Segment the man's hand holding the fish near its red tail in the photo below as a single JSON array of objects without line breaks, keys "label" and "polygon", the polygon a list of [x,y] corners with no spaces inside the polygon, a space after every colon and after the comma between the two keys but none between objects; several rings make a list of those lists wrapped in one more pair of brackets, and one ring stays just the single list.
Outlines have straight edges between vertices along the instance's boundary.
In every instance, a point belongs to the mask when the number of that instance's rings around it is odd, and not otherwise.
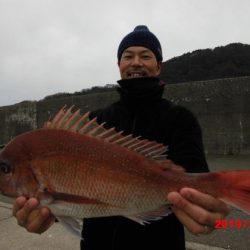
[{"label": "man's hand holding the fish near its red tail", "polygon": [[214,230],[216,220],[229,214],[228,206],[211,195],[195,189],[182,188],[167,197],[179,221],[193,234],[207,234]]}]

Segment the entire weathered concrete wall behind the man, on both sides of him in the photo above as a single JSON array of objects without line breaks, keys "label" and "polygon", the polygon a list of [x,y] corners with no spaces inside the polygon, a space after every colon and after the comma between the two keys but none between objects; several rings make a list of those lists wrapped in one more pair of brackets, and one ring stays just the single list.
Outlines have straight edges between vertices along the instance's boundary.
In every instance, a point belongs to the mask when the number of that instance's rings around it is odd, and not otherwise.
[{"label": "entire weathered concrete wall behind the man, on both sides of him", "polygon": [[[207,154],[250,153],[250,77],[169,85],[164,96],[198,117]],[[0,107],[0,144],[41,127],[64,104],[84,113],[117,99],[113,91]]]}]

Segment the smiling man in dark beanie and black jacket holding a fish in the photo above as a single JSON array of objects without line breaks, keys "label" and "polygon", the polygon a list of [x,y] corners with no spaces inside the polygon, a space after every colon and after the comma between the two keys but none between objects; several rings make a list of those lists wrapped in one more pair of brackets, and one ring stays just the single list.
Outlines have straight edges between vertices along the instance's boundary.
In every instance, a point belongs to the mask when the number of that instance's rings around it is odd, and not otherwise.
[{"label": "smiling man in dark beanie and black jacket holding a fish", "polygon": [[[90,116],[124,135],[164,143],[168,158],[188,172],[208,171],[197,119],[162,98],[164,84],[158,79],[162,60],[157,37],[146,26],[137,26],[118,48],[120,100]],[[206,234],[228,214],[222,201],[189,188],[166,199],[173,204],[173,213],[145,226],[118,216],[84,219],[82,249],[185,249],[182,225],[194,234]],[[13,214],[28,231],[42,233],[53,224],[54,216],[47,208],[38,209],[38,204],[34,198],[19,197]]]}]

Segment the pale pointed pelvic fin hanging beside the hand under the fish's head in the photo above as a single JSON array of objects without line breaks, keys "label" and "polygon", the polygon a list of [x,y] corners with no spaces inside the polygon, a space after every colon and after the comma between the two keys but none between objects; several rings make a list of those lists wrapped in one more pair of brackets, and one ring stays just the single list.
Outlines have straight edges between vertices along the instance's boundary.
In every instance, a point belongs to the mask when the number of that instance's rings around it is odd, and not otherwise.
[{"label": "pale pointed pelvic fin hanging beside the hand under the fish's head", "polygon": [[67,230],[82,239],[83,219],[68,216],[57,216],[56,218]]}]

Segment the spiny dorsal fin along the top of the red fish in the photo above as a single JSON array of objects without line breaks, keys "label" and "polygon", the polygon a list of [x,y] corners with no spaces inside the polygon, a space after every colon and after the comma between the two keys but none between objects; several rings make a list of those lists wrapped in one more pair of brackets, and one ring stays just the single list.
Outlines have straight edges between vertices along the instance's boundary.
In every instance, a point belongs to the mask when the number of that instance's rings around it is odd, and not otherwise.
[{"label": "spiny dorsal fin along the top of the red fish", "polygon": [[66,109],[64,106],[51,120],[44,124],[45,129],[64,129],[71,132],[95,137],[107,142],[128,148],[148,159],[164,162],[166,160],[167,147],[155,141],[141,140],[132,135],[124,136],[123,131],[116,132],[115,128],[106,129],[104,124],[98,124],[96,118],[89,119],[89,112],[80,115],[80,110],[72,112],[74,106]]}]

